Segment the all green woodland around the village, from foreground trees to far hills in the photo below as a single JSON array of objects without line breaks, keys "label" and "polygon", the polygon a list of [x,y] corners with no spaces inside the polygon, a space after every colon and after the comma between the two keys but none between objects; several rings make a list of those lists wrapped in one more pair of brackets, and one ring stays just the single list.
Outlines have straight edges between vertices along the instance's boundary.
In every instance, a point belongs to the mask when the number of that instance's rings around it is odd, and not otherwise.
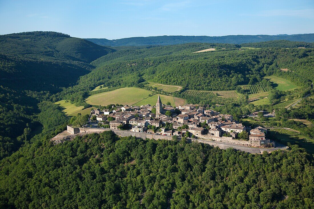
[{"label": "all green woodland around the village, from foreground trees to far hills", "polygon": [[[313,139],[314,46],[297,41],[312,42],[310,35],[283,36],[177,45],[166,37],[164,44],[106,47],[56,32],[0,35],[0,207],[314,208],[313,153],[298,142],[286,143],[287,152],[261,155],[111,131],[50,142],[75,119],[55,102],[87,108],[90,95],[122,87],[184,98],[246,126],[291,128]],[[215,51],[192,53],[208,48]],[[269,76],[297,88],[278,89]],[[182,88],[167,93],[149,82]],[[91,91],[99,85],[107,88]],[[238,97],[216,105],[191,90],[233,90]],[[267,104],[249,101],[265,95]],[[242,117],[259,110],[274,110],[276,117]]]}]

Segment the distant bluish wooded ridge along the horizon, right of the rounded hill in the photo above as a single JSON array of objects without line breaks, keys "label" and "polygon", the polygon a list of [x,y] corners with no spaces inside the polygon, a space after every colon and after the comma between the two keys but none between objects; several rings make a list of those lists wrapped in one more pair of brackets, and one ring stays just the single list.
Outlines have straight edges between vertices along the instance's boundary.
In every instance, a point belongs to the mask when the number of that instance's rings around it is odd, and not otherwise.
[{"label": "distant bluish wooded ridge along the horizon, right of the rounded hill", "polygon": [[116,40],[87,38],[101,46],[149,46],[149,45],[174,45],[183,43],[229,43],[242,44],[251,42],[263,42],[270,40],[290,40],[314,42],[314,34],[294,34],[294,35],[226,35],[226,36],[183,36],[164,35],[149,37],[132,37]]}]

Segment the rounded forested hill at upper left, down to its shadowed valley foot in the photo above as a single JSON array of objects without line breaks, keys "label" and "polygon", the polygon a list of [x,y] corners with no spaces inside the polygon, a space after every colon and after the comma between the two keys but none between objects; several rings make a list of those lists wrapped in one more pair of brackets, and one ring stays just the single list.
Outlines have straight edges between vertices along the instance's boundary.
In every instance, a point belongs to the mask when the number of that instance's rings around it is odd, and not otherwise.
[{"label": "rounded forested hill at upper left, down to its shadowed valley foot", "polygon": [[56,32],[0,35],[1,84],[18,90],[49,90],[76,83],[95,59],[113,49]]}]

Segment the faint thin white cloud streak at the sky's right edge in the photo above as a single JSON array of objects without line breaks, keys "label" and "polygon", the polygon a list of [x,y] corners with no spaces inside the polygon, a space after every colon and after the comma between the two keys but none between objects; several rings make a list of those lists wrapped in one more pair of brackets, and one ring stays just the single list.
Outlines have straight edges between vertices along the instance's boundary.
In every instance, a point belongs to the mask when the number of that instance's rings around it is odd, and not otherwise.
[{"label": "faint thin white cloud streak at the sky's right edge", "polygon": [[243,14],[247,16],[273,17],[288,16],[299,18],[314,18],[314,9],[273,9],[265,10],[260,13]]}]

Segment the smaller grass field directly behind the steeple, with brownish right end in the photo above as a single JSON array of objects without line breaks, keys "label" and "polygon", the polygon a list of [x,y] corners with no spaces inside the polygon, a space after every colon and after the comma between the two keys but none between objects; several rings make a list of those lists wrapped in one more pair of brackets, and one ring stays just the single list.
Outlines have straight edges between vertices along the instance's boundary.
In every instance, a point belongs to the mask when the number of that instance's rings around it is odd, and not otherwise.
[{"label": "smaller grass field directly behind the steeple, with brownish right end", "polygon": [[[150,96],[148,98],[145,98],[137,103],[135,103],[134,105],[156,105],[156,101],[158,98],[158,94],[155,94],[153,96]],[[184,105],[185,104],[185,100],[181,99],[181,98],[177,98],[177,97],[173,97],[173,96],[167,96],[167,95],[161,95],[160,94],[160,99],[161,102],[163,104],[166,104],[167,102],[170,102],[172,106],[178,106],[178,105]]]}]

